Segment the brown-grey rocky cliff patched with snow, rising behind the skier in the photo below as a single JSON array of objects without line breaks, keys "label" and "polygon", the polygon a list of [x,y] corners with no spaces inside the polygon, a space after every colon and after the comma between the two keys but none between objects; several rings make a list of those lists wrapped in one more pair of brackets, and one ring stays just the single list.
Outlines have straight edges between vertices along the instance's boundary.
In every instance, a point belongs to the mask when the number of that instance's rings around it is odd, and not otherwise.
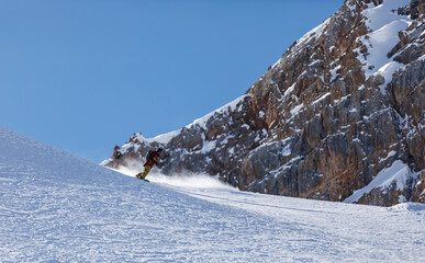
[{"label": "brown-grey rocky cliff patched with snow, rising behind the skier", "polygon": [[326,201],[425,203],[422,0],[350,0],[239,99],[183,127],[115,147],[111,168],[166,149],[166,174]]}]

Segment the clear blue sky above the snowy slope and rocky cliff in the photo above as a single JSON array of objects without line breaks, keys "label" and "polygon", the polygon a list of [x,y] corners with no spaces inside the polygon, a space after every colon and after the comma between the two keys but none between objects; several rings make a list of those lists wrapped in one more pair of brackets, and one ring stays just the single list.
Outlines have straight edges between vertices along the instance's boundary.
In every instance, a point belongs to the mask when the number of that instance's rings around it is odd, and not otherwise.
[{"label": "clear blue sky above the snowy slope and rocky cliff", "polygon": [[1,0],[0,125],[93,162],[241,96],[343,0]]}]

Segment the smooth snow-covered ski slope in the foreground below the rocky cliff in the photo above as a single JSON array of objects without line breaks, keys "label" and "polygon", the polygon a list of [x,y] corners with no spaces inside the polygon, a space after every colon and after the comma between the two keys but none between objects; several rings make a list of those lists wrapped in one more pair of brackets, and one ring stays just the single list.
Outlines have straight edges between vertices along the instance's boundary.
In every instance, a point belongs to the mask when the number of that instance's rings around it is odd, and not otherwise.
[{"label": "smooth snow-covered ski slope in the foreground below the rocky cliff", "polygon": [[108,170],[0,127],[1,262],[425,262],[425,205]]}]

